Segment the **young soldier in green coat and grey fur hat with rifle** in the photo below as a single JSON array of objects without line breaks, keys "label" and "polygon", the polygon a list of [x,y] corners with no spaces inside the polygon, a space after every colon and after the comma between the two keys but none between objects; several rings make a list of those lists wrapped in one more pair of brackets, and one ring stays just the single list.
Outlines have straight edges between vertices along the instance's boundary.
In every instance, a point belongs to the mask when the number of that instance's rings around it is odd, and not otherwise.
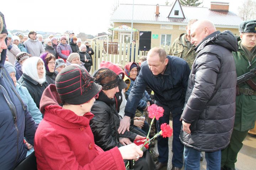
[{"label": "young soldier in green coat and grey fur hat with rifle", "polygon": [[[239,49],[237,52],[233,52],[237,77],[256,67],[256,20],[242,22],[239,32]],[[251,80],[256,83],[256,77]],[[245,82],[237,88],[234,129],[230,144],[222,150],[222,170],[235,170],[236,157],[242,148],[242,141],[244,141],[248,130],[254,128],[256,119],[255,87],[255,85],[250,85],[250,82]]]}]

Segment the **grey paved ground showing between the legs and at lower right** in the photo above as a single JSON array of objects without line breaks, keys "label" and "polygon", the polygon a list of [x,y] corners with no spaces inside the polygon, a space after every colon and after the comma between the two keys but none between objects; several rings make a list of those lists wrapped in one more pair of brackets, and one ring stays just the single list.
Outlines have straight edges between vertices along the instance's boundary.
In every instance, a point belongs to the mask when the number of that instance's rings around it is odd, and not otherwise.
[{"label": "grey paved ground showing between the legs and at lower right", "polygon": [[[171,125],[171,121],[170,121]],[[156,140],[155,140],[156,141]],[[171,170],[172,165],[171,165],[171,158],[172,158],[172,137],[169,138],[169,161],[168,161],[168,166],[167,170]],[[236,170],[256,170],[256,136],[252,137],[250,135],[247,135],[247,137],[244,140],[244,145],[242,149],[240,150],[238,154],[238,162],[235,164],[236,165]],[[154,151],[158,153],[157,151],[157,142],[154,148]],[[204,152],[203,152],[204,154]],[[204,158],[203,161],[201,161],[201,170],[206,170],[206,160]],[[184,168],[182,168],[183,170]],[[164,170],[164,169],[162,169]]]}]

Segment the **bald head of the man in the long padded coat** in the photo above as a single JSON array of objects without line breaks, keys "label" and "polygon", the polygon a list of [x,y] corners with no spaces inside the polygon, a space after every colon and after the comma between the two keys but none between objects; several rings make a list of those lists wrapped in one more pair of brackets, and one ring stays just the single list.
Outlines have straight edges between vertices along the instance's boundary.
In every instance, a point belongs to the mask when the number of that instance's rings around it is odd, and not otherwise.
[{"label": "bald head of the man in the long padded coat", "polygon": [[214,33],[216,28],[209,20],[199,20],[192,24],[190,35],[191,44],[197,46],[204,38]]}]

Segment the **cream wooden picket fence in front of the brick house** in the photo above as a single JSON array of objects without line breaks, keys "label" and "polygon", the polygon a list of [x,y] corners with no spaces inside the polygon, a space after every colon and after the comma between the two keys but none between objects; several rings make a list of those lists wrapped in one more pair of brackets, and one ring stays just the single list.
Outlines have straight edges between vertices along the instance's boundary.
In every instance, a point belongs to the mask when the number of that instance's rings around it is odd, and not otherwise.
[{"label": "cream wooden picket fence in front of the brick house", "polygon": [[[100,66],[102,61],[110,61],[112,63],[121,64],[125,66],[128,62],[139,62],[139,58],[146,56],[148,51],[139,51],[139,43],[129,44],[129,43],[118,43],[118,53],[117,54],[107,54],[104,50],[103,42],[104,40],[94,40],[91,43],[91,47],[94,50],[94,55],[92,55],[93,67],[91,68],[91,73],[94,73]],[[163,46],[161,48],[165,49],[166,53],[169,52],[170,46]]]}]

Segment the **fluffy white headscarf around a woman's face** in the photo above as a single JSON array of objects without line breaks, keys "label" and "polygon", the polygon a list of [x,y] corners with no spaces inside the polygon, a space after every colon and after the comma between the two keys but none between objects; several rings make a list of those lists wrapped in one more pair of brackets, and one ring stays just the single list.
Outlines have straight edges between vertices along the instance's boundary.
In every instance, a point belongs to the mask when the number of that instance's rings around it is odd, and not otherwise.
[{"label": "fluffy white headscarf around a woman's face", "polygon": [[44,69],[43,78],[39,79],[38,73],[37,73],[37,62],[38,60],[41,60],[44,66],[44,62],[40,57],[30,57],[24,63],[22,64],[22,71],[26,75],[28,75],[33,80],[37,81],[39,84],[43,84],[46,81],[46,70]]}]

